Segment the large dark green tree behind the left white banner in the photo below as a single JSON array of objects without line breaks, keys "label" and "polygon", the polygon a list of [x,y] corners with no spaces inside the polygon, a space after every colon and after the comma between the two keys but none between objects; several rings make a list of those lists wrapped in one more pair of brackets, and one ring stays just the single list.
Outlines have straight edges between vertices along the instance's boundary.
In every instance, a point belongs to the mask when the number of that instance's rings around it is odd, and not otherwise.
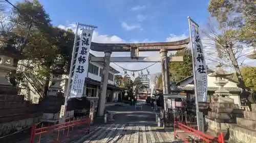
[{"label": "large dark green tree behind the left white banner", "polygon": [[[50,16],[37,0],[18,2],[15,6],[19,11],[13,8],[11,15],[3,16],[12,27],[1,27],[1,42],[15,46],[26,55],[39,79],[51,77],[57,58],[63,61],[63,68],[68,71],[74,33],[52,26]],[[15,74],[10,78],[17,77]]]}]

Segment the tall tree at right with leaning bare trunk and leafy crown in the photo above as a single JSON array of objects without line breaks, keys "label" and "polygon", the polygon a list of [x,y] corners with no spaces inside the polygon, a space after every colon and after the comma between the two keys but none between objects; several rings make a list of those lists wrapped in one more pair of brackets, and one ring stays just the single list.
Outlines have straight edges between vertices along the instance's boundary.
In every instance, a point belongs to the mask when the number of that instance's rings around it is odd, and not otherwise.
[{"label": "tall tree at right with leaning bare trunk and leafy crown", "polygon": [[[239,68],[238,59],[244,55],[243,49],[256,45],[256,2],[239,0],[211,0],[208,11],[217,19],[219,25],[216,30],[209,27],[214,39],[219,58],[231,61],[231,67],[236,71],[239,87],[246,91],[245,81]],[[229,63],[228,63],[229,64]]]}]

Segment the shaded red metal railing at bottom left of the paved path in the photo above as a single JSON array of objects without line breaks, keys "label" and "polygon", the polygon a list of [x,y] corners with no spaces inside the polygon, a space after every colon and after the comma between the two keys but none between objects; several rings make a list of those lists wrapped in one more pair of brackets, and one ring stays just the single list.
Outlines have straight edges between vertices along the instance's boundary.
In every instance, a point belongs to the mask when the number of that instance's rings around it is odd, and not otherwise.
[{"label": "shaded red metal railing at bottom left of the paved path", "polygon": [[[84,126],[84,125],[87,125],[87,126]],[[69,121],[66,123],[52,125],[49,127],[40,127],[40,128],[37,128],[37,125],[35,124],[32,126],[32,129],[31,129],[30,143],[34,143],[34,140],[38,140],[37,142],[40,143],[42,136],[47,133],[50,133],[51,135],[50,137],[46,136],[46,138],[52,138],[51,143],[59,142],[69,137],[72,137],[74,135],[77,135],[79,133],[83,133],[83,132],[89,133],[90,125],[91,125],[90,118],[79,119],[75,121]],[[75,126],[81,127],[80,130],[75,131],[74,130]],[[75,129],[78,129],[77,127]]]}]

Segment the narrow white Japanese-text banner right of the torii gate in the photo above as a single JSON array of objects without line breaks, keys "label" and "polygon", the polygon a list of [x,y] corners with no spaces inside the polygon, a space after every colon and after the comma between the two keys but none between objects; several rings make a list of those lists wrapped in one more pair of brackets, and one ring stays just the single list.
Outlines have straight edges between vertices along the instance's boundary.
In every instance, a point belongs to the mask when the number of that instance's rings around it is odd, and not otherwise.
[{"label": "narrow white Japanese-text banner right of the torii gate", "polygon": [[207,99],[207,68],[205,63],[204,47],[202,45],[202,40],[199,35],[198,26],[194,24],[195,37],[194,37],[194,65],[195,65],[195,75],[197,86],[197,97],[198,102],[206,102]]}]

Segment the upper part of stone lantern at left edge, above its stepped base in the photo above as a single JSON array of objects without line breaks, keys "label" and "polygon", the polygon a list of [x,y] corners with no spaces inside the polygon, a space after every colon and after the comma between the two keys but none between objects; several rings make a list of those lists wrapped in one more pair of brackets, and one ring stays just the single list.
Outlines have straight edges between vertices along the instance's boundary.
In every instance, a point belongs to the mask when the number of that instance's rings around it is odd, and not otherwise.
[{"label": "upper part of stone lantern at left edge, above its stepped base", "polygon": [[0,93],[1,94],[17,94],[17,89],[12,87],[12,84],[7,80],[6,75],[17,67],[13,66],[13,59],[20,59],[22,55],[15,47],[4,44],[0,46]]}]

